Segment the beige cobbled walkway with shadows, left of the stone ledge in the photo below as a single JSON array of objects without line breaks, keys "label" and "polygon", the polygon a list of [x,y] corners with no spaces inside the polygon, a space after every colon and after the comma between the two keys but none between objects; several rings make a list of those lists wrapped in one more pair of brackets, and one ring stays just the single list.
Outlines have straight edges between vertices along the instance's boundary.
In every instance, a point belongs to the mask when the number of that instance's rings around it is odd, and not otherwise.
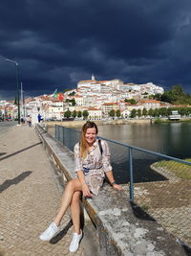
[{"label": "beige cobbled walkway with shadows, left of the stone ledge", "polygon": [[53,167],[34,128],[15,126],[0,136],[0,256],[84,255],[68,250],[70,217],[50,243],[38,239],[60,203]]}]

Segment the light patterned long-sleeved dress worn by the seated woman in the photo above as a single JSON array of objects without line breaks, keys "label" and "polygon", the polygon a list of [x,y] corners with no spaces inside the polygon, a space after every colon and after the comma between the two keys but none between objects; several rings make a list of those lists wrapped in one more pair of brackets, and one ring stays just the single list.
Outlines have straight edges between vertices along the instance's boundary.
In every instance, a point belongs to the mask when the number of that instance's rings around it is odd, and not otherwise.
[{"label": "light patterned long-sleeved dress worn by the seated woman", "polygon": [[98,195],[103,185],[105,173],[112,171],[110,164],[110,150],[106,141],[101,140],[102,154],[98,146],[98,139],[85,158],[80,156],[79,143],[74,146],[75,172],[83,171],[85,182],[94,195]]}]

